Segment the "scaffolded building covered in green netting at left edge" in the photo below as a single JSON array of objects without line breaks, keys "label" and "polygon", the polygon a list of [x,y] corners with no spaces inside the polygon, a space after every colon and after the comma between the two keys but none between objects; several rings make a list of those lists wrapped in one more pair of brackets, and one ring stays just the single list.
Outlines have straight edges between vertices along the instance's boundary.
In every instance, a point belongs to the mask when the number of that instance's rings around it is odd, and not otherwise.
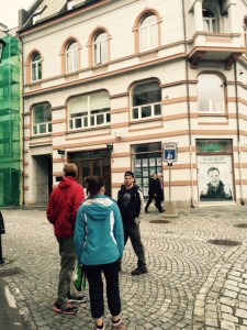
[{"label": "scaffolded building covered in green netting at left edge", "polygon": [[0,64],[0,207],[21,200],[21,65],[19,40],[7,35]]}]

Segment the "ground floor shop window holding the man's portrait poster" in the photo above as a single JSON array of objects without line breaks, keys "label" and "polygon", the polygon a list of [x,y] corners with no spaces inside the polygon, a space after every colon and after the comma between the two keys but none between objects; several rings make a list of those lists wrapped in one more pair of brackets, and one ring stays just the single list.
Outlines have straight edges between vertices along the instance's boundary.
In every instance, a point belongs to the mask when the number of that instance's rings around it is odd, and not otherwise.
[{"label": "ground floor shop window holding the man's portrait poster", "polygon": [[234,199],[232,140],[197,140],[199,200]]}]

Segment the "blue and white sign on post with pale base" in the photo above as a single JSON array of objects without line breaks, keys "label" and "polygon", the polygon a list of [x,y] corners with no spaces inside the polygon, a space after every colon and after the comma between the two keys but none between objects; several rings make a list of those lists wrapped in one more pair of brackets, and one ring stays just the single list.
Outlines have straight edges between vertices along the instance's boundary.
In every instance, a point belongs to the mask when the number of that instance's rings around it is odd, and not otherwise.
[{"label": "blue and white sign on post with pale base", "polygon": [[167,162],[169,167],[169,201],[167,204],[167,217],[177,217],[173,204],[171,201],[171,166],[173,162],[178,158],[178,145],[177,142],[166,142],[164,143],[164,162]]}]

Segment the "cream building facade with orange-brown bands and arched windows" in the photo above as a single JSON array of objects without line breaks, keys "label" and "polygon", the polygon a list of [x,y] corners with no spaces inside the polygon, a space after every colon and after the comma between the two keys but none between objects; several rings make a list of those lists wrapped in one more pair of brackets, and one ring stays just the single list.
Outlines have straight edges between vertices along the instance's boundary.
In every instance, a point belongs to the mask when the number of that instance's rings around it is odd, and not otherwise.
[{"label": "cream building facade with orange-brown bands and arched windows", "polygon": [[47,202],[75,162],[81,184],[102,175],[112,197],[132,169],[145,196],[162,172],[178,206],[245,204],[246,13],[244,0],[38,0],[20,11],[24,202]]}]

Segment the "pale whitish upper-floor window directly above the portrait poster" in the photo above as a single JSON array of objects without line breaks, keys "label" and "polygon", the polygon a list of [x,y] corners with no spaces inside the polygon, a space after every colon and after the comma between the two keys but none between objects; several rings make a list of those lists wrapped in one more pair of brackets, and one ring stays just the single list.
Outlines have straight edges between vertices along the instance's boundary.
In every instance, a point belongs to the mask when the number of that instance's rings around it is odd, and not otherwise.
[{"label": "pale whitish upper-floor window directly above the portrait poster", "polygon": [[202,113],[223,113],[225,111],[224,84],[218,76],[199,76],[198,108]]}]

